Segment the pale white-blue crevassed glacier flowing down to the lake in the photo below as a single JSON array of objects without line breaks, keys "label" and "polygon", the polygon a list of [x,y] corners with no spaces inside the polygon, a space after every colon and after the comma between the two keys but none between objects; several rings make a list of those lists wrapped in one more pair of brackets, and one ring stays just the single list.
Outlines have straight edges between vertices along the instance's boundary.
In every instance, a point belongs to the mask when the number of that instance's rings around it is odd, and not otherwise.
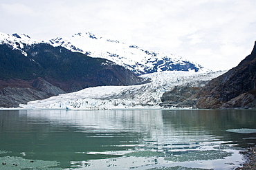
[{"label": "pale white-blue crevassed glacier flowing down to the lake", "polygon": [[203,87],[208,81],[225,73],[165,71],[144,74],[151,83],[131,86],[89,87],[78,92],[60,94],[44,100],[30,101],[19,105],[26,109],[131,109],[162,108],[161,96],[176,86]]}]

